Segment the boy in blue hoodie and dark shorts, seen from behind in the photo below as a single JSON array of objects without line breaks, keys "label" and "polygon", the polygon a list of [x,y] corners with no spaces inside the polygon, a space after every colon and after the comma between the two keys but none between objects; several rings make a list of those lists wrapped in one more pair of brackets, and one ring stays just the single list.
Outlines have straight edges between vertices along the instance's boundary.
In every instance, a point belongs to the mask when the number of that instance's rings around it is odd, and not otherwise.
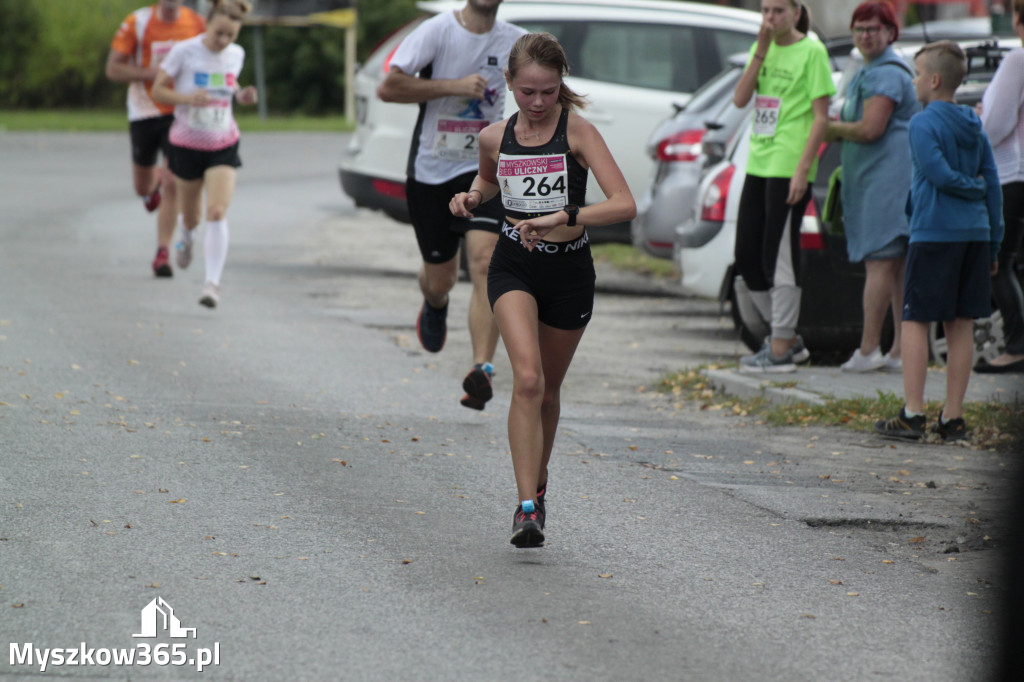
[{"label": "boy in blue hoodie and dark shorts, seen from behind", "polygon": [[926,45],[913,81],[926,108],[910,120],[910,246],[904,279],[903,392],[899,415],[874,424],[881,435],[925,435],[928,329],[945,328],[946,402],[932,432],[966,437],[964,396],[974,360],[974,318],[991,314],[990,276],[1002,241],[1002,197],[981,119],[956,104],[967,57],[953,42]]}]

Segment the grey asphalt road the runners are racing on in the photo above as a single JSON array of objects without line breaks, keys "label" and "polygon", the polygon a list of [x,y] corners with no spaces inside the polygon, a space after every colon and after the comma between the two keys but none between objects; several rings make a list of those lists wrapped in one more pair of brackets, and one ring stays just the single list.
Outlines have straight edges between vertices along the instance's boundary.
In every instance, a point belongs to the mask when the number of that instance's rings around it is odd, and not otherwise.
[{"label": "grey asphalt road the runners are racing on", "polygon": [[[0,134],[0,678],[164,642],[218,680],[981,679],[1006,462],[674,404],[660,375],[741,350],[712,303],[602,282],[548,546],[509,545],[507,360],[459,406],[467,285],[426,353],[412,233],[342,196],[342,144],[244,137],[208,310],[201,253],[148,270],[127,135]],[[158,597],[195,638],[133,637]]]}]

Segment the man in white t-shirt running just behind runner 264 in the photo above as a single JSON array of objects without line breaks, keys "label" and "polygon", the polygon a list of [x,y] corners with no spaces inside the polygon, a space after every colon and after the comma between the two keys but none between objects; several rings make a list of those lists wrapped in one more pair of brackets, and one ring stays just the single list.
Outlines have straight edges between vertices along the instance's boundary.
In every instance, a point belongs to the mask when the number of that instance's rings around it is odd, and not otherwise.
[{"label": "man in white t-shirt running just behind runner 264", "polygon": [[420,104],[406,196],[423,256],[424,301],[416,331],[430,352],[444,346],[449,292],[459,276],[459,240],[465,235],[474,366],[463,381],[462,404],[474,410],[483,410],[493,395],[498,327],[487,302],[487,266],[503,214],[501,202],[492,201],[474,211],[472,220],[454,218],[449,202],[469,189],[476,175],[480,130],[502,119],[509,51],[526,33],[497,19],[501,2],[467,0],[462,9],[424,22],[395,50],[377,90],[384,101]]}]

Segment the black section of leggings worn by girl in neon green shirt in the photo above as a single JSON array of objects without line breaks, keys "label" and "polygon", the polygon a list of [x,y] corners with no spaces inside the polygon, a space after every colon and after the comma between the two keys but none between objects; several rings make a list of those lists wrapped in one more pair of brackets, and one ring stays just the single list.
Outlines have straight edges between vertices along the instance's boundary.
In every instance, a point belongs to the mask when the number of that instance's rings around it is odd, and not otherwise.
[{"label": "black section of leggings worn by girl in neon green shirt", "polygon": [[786,217],[790,217],[790,253],[793,276],[800,286],[800,225],[811,200],[811,185],[796,206],[790,197],[790,178],[748,175],[739,197],[736,218],[736,271],[751,291],[769,291],[775,286],[775,264],[782,246]]}]

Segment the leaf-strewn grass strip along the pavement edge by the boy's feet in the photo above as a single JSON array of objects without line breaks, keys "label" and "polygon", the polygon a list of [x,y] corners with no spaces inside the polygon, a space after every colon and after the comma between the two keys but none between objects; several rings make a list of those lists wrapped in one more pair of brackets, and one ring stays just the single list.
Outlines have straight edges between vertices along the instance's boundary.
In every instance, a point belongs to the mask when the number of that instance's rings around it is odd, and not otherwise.
[{"label": "leaf-strewn grass strip along the pavement edge by the boy's feet", "polygon": [[[707,370],[724,369],[723,365],[700,367],[668,375],[658,389],[683,402],[696,403],[700,410],[714,410],[737,416],[753,416],[759,423],[772,426],[838,426],[855,431],[873,432],[874,422],[895,416],[903,406],[903,396],[878,391],[873,397],[825,398],[824,404],[787,402],[778,404],[765,398],[737,398],[717,392],[708,382]],[[938,417],[942,403],[931,401],[926,410],[932,419]],[[1020,452],[1024,445],[1024,407],[1010,402],[967,402],[964,418],[970,429],[970,445],[983,450]],[[932,434],[928,442],[941,442]]]}]

